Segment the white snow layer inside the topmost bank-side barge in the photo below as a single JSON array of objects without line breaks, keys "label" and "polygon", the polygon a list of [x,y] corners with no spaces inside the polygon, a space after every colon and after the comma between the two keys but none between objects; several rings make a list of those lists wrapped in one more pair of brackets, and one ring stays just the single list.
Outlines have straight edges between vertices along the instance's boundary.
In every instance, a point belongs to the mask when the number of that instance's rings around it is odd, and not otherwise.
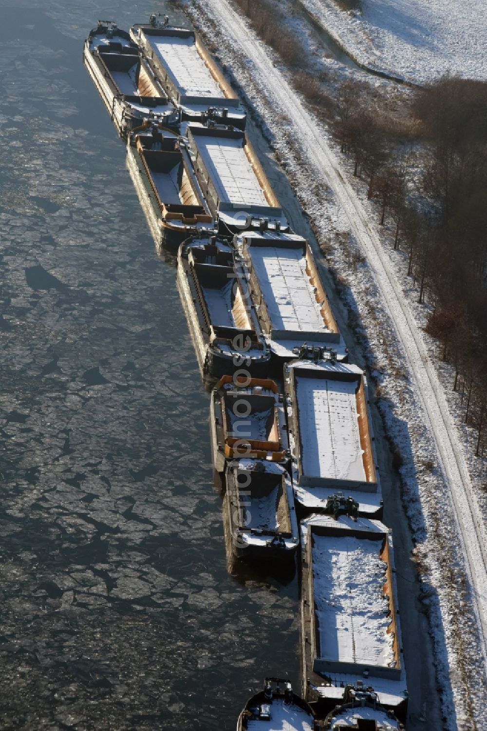
[{"label": "white snow layer inside the topmost bank-side barge", "polygon": [[196,50],[193,38],[168,36],[164,41],[158,41],[147,36],[147,39],[169,70],[182,96],[225,97]]}]

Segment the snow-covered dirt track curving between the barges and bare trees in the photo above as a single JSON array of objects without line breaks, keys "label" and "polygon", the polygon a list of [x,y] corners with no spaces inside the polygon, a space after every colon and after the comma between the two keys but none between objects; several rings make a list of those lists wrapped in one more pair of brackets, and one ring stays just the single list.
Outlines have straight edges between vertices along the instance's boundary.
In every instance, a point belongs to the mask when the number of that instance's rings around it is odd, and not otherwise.
[{"label": "snow-covered dirt track curving between the barges and bare trees", "polygon": [[[421,331],[416,325],[401,287],[383,252],[379,237],[367,220],[361,202],[342,172],[340,162],[320,132],[318,125],[307,112],[294,89],[288,84],[283,72],[272,63],[264,45],[249,31],[246,23],[226,0],[205,0],[206,12],[218,18],[221,31],[231,38],[234,48],[250,59],[253,75],[272,99],[276,113],[283,113],[299,131],[302,141],[302,159],[315,168],[321,179],[326,179],[342,205],[350,227],[375,276],[377,287],[394,324],[394,330],[407,362],[423,407],[424,420],[429,426],[437,450],[438,461],[450,488],[451,506],[459,528],[459,541],[463,548],[471,599],[478,619],[479,649],[487,662],[487,533],[478,506],[467,464],[462,452],[456,427],[450,420],[445,395],[426,353]],[[452,537],[453,540],[453,537]]]}]

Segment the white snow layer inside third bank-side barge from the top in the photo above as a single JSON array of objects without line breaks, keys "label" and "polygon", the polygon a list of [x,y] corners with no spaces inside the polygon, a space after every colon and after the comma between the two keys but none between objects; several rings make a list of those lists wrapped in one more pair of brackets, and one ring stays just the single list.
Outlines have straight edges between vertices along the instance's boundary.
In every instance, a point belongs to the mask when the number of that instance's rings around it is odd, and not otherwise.
[{"label": "white snow layer inside third bank-side barge from the top", "polygon": [[249,251],[273,329],[326,331],[302,250],[250,246]]}]

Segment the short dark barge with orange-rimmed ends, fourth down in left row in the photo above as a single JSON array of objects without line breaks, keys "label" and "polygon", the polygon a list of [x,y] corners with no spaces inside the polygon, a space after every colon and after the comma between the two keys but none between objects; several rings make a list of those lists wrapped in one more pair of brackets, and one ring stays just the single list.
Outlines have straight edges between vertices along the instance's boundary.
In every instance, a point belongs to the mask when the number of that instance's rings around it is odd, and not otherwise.
[{"label": "short dark barge with orange-rimmed ends, fourth down in left row", "polygon": [[212,390],[210,431],[220,475],[234,459],[289,461],[283,395],[269,379],[223,376]]}]

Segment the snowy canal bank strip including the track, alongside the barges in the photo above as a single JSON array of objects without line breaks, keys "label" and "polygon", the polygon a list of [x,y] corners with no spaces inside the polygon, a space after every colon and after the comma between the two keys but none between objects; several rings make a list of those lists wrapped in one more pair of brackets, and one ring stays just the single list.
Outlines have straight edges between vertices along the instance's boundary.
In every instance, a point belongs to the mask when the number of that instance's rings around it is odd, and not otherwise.
[{"label": "snowy canal bank strip including the track, alongside the barges", "polygon": [[[329,246],[342,294],[356,315],[356,334],[362,336],[380,383],[388,433],[404,457],[404,502],[434,636],[445,724],[483,727],[487,573],[479,493],[469,478],[464,446],[414,308],[404,298],[383,241],[348,182],[326,129],[296,98],[269,49],[226,0],[207,0],[204,12],[193,4],[190,12],[218,43],[225,63],[265,120],[296,194],[321,243]],[[354,242],[361,247],[361,257],[355,259]]]}]

